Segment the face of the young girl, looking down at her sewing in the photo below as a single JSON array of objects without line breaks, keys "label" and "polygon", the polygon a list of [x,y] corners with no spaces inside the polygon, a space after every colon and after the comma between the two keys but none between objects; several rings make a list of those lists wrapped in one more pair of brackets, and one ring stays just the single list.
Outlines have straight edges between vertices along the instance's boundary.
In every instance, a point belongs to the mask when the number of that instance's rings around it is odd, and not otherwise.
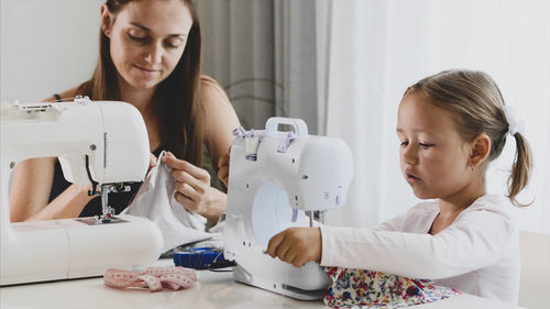
[{"label": "face of the young girl, looking down at her sewing", "polygon": [[408,93],[399,104],[397,135],[400,167],[415,196],[451,198],[471,183],[471,146],[459,135],[449,111],[424,93]]}]

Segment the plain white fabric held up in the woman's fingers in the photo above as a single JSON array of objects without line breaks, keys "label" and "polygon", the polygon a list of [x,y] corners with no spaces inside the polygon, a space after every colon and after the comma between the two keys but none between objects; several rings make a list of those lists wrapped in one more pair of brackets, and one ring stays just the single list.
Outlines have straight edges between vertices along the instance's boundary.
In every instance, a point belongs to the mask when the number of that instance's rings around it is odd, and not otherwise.
[{"label": "plain white fabric held up in the woman's fingers", "polygon": [[207,219],[187,211],[174,198],[174,180],[169,175],[172,168],[162,163],[165,155],[164,151],[158,155],[158,164],[148,172],[132,203],[122,211],[122,214],[143,217],[155,222],[163,234],[163,252],[219,235],[206,232]]}]

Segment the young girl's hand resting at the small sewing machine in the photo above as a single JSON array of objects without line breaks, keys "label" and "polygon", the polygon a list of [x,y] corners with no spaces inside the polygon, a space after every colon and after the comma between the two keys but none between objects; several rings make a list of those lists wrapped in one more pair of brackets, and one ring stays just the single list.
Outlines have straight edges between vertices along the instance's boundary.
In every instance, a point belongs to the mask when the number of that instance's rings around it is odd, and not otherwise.
[{"label": "young girl's hand resting at the small sewing machine", "polygon": [[321,260],[321,230],[319,228],[290,228],[270,240],[267,253],[283,262],[301,267]]}]

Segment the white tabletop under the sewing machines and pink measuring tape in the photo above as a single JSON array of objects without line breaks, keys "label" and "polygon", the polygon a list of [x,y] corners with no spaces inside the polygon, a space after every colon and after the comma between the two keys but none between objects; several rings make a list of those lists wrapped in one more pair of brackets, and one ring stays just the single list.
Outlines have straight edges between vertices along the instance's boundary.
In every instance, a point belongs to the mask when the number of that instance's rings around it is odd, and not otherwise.
[{"label": "white tabletop under the sewing machines and pink measuring tape", "polygon": [[[189,289],[121,290],[103,285],[102,278],[28,284],[0,288],[1,309],[31,308],[329,308],[321,300],[300,301],[232,279],[231,273],[198,271],[198,280]],[[462,295],[420,308],[519,308],[484,298]]]}]

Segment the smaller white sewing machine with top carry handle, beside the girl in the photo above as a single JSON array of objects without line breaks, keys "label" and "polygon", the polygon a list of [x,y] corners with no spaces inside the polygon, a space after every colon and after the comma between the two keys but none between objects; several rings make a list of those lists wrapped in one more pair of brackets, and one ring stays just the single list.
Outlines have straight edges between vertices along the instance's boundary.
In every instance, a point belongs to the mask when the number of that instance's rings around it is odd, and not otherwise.
[{"label": "smaller white sewing machine with top carry handle, beside the girl", "polygon": [[[279,131],[279,124],[294,132]],[[314,212],[345,202],[353,177],[349,146],[308,135],[300,119],[271,118],[265,131],[233,133],[224,256],[238,264],[234,279],[297,299],[322,298],[330,282],[317,263],[294,267],[265,250],[276,233],[311,227]]]}]

